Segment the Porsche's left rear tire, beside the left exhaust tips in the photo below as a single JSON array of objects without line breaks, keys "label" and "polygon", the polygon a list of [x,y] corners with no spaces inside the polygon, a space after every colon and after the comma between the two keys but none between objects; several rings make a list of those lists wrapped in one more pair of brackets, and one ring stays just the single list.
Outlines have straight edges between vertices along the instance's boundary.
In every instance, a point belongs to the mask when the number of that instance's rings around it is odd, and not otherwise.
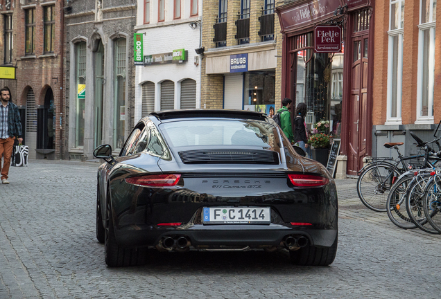
[{"label": "Porsche's left rear tire, beside the left exhaust tips", "polygon": [[104,256],[107,266],[141,266],[147,263],[147,248],[122,248],[116,243],[112,210],[110,208],[110,192],[106,200],[106,226]]}]

